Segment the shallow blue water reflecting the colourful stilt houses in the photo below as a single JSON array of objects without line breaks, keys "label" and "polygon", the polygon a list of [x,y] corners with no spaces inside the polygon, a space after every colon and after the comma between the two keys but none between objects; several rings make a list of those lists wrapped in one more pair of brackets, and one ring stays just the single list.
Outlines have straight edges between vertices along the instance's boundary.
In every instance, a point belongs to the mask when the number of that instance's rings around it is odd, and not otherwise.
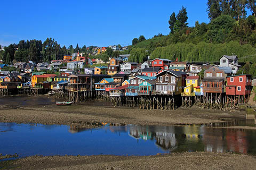
[{"label": "shallow blue water reflecting the colourful stilt houses", "polygon": [[256,131],[188,126],[113,126],[0,123],[0,153],[32,155],[156,155],[180,151],[256,155]]}]

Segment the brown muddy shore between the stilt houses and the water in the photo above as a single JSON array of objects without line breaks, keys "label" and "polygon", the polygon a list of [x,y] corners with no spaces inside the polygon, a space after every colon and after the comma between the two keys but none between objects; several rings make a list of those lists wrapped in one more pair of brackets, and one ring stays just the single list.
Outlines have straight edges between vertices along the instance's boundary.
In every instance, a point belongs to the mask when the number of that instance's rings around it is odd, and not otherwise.
[{"label": "brown muddy shore between the stilt houses and the water", "polygon": [[245,112],[214,111],[197,107],[174,111],[85,105],[0,106],[0,122],[86,125],[107,122],[140,125],[185,125],[221,122],[222,118],[245,118]]}]

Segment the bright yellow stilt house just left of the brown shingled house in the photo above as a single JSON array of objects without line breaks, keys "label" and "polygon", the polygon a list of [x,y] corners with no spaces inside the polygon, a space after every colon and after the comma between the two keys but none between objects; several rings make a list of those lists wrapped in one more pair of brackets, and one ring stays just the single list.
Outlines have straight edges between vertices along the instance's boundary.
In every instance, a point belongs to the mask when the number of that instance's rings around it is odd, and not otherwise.
[{"label": "bright yellow stilt house just left of the brown shingled house", "polygon": [[186,87],[182,96],[198,96],[200,95],[199,76],[189,76],[186,78]]}]

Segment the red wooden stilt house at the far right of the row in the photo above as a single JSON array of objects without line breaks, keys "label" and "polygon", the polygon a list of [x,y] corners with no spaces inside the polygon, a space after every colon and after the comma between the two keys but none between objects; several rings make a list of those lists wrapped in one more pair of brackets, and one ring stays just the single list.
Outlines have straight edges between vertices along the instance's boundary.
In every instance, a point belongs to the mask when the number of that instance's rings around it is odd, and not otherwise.
[{"label": "red wooden stilt house at the far right of the row", "polygon": [[250,95],[252,89],[252,75],[241,74],[227,77],[227,95]]}]

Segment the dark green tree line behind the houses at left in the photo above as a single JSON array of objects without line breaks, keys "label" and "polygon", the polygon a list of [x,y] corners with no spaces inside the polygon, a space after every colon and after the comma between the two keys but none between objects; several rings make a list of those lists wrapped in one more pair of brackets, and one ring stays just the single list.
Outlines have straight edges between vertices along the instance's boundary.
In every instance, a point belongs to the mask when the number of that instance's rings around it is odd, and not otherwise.
[{"label": "dark green tree line behind the houses at left", "polygon": [[6,64],[11,64],[15,61],[20,62],[49,62],[51,60],[62,60],[63,55],[71,55],[73,53],[86,53],[87,48],[84,45],[80,48],[77,44],[76,48],[70,45],[61,47],[57,41],[52,38],[47,38],[43,43],[41,40],[20,40],[18,44],[10,44],[4,47],[0,53],[0,58]]}]

